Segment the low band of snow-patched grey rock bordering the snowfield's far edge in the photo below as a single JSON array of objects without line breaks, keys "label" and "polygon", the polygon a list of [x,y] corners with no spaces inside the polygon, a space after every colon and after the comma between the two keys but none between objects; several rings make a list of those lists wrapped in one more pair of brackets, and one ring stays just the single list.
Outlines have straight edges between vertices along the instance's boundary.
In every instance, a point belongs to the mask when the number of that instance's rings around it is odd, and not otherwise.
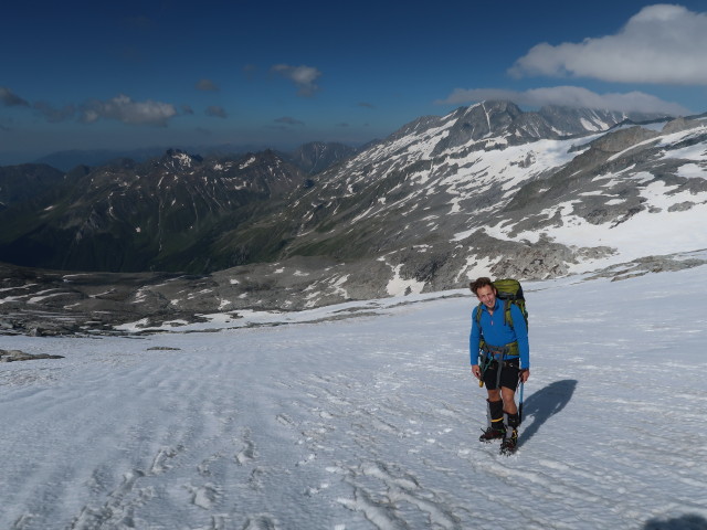
[{"label": "low band of snow-patched grey rock bordering the snowfield's far edge", "polygon": [[[238,320],[252,310],[287,314],[347,300],[386,298],[387,266],[336,264],[308,258],[267,266],[244,266],[205,276],[145,273],[140,275],[65,274],[0,264],[2,316],[0,335],[34,337],[124,335],[120,327],[161,328],[179,332],[215,315]],[[645,256],[584,275],[612,280],[707,265],[707,250]],[[425,274],[430,271],[420,271]],[[414,273],[412,273],[414,274]],[[346,279],[362,279],[351,289]],[[381,287],[382,285],[382,287]],[[466,288],[456,282],[454,288]],[[399,295],[411,293],[405,289]],[[442,295],[443,296],[442,292]],[[244,296],[245,295],[245,296]],[[351,310],[344,316],[360,316]],[[340,317],[328,317],[340,318]],[[228,327],[228,326],[226,326]],[[150,331],[155,332],[155,331]]]}]

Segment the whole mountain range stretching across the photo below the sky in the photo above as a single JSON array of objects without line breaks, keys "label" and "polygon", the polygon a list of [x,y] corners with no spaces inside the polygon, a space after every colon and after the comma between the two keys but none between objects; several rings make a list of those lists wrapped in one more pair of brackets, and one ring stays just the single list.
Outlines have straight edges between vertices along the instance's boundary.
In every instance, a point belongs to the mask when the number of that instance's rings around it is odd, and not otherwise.
[{"label": "whole mountain range stretching across the photo below the sky", "polygon": [[[484,102],[421,117],[355,152],[170,150],[62,174],[41,168],[32,171],[45,176],[44,193],[0,194],[0,261],[160,271],[123,301],[151,296],[148,312],[163,318],[443,290],[482,274],[539,279],[656,266],[655,256],[707,247],[704,115]],[[71,305],[95,296],[96,282],[76,287]],[[190,282],[200,295],[184,294]],[[60,298],[54,310],[70,305]]]}]

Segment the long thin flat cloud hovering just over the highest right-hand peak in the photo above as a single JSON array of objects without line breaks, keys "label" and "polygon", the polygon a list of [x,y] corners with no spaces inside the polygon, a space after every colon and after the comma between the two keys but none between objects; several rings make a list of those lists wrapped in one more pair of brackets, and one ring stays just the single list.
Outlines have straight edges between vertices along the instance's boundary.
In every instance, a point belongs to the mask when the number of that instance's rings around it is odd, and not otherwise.
[{"label": "long thin flat cloud hovering just over the highest right-hand peak", "polygon": [[435,103],[465,105],[489,99],[508,99],[517,105],[531,107],[561,105],[622,112],[665,113],[673,116],[692,114],[689,109],[677,103],[664,102],[658,97],[642,92],[597,94],[580,86],[552,86],[525,92],[497,88],[456,88],[446,99]]}]

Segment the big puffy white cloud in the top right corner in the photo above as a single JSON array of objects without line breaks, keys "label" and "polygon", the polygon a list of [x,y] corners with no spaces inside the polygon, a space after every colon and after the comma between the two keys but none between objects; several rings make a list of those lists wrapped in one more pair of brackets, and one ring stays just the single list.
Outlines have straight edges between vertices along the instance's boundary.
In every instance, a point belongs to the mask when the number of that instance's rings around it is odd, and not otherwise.
[{"label": "big puffy white cloud in the top right corner", "polygon": [[705,51],[707,13],[682,6],[655,4],[643,8],[615,35],[557,46],[538,44],[509,73],[707,85]]}]

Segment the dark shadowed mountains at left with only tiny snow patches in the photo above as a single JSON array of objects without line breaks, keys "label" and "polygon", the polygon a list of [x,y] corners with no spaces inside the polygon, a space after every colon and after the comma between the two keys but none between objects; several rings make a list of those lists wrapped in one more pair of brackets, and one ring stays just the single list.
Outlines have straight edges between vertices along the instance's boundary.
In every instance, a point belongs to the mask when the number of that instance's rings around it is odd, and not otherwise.
[{"label": "dark shadowed mountains at left with only tiny snow patches", "polygon": [[305,179],[273,151],[204,160],[169,150],[144,163],[123,159],[70,174],[61,191],[0,212],[0,261],[116,272],[239,265],[267,256],[271,243],[244,251],[239,242],[225,242],[221,253],[210,245],[275,208]]}]

